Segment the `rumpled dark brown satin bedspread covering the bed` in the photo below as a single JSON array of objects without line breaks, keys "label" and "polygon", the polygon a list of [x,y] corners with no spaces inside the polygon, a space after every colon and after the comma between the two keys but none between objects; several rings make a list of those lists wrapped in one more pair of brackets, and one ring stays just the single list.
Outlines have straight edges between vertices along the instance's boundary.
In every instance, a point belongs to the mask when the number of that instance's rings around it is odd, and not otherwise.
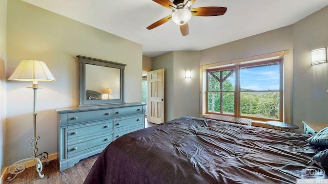
[{"label": "rumpled dark brown satin bedspread covering the bed", "polygon": [[[99,154],[85,183],[296,183],[297,178],[327,178],[324,167],[313,160],[324,150],[306,142],[309,137],[182,117],[113,141]],[[309,169],[316,172],[309,174]]]}]

